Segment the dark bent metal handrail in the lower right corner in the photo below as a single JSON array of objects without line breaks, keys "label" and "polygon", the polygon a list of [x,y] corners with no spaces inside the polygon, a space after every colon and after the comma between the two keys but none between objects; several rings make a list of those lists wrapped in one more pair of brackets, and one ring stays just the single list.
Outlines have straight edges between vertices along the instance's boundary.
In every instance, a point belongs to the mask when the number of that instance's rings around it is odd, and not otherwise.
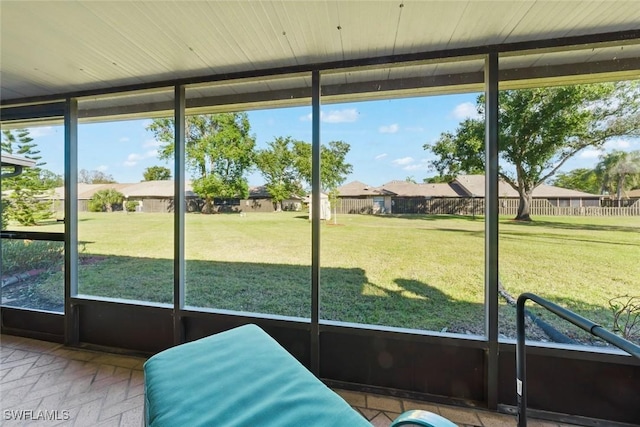
[{"label": "dark bent metal handrail in the lower right corner", "polygon": [[627,341],[597,323],[567,310],[564,307],[560,307],[559,305],[539,297],[538,295],[523,293],[518,297],[518,302],[516,303],[516,392],[518,395],[518,427],[527,426],[527,373],[525,364],[524,304],[528,299],[546,308],[556,316],[573,323],[580,329],[602,338],[609,344],[626,351],[637,359],[640,359],[640,347],[636,344]]}]

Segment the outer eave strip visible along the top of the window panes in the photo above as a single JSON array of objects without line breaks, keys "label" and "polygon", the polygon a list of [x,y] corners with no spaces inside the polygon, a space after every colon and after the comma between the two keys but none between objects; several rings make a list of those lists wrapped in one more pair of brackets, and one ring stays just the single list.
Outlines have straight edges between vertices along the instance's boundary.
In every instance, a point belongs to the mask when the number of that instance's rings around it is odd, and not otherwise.
[{"label": "outer eave strip visible along the top of the window panes", "polygon": [[[501,70],[500,88],[515,89],[557,86],[576,83],[595,83],[638,76],[640,58],[627,58],[582,64],[513,68]],[[481,92],[482,71],[428,77],[373,80],[326,85],[322,87],[323,104],[360,100],[388,99],[408,96],[428,96],[461,92]],[[98,101],[99,102],[99,101]],[[189,114],[222,111],[254,110],[260,108],[310,105],[311,88],[298,87],[273,91],[203,96],[186,101]],[[129,119],[171,115],[173,101],[146,102],[104,108],[83,108],[79,118],[84,121]],[[92,120],[93,119],[93,120]]]}]

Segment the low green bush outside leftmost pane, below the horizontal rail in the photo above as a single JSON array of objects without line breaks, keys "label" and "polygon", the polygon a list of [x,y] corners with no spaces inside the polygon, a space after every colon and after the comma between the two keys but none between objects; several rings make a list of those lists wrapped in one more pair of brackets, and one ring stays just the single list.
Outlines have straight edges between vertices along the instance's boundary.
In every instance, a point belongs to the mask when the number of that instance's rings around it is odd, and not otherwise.
[{"label": "low green bush outside leftmost pane, below the horizontal rail", "polygon": [[2,275],[23,273],[36,268],[60,268],[63,254],[62,242],[3,239]]}]

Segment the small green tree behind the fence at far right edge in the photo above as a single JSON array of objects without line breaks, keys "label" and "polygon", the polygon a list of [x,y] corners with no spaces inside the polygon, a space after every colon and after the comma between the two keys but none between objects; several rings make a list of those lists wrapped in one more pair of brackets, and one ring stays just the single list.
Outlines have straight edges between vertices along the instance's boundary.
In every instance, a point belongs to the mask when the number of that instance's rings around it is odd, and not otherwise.
[{"label": "small green tree behind the fence at far right edge", "polygon": [[601,194],[615,194],[618,206],[622,193],[640,185],[640,150],[614,150],[600,157],[595,174],[600,178]]}]

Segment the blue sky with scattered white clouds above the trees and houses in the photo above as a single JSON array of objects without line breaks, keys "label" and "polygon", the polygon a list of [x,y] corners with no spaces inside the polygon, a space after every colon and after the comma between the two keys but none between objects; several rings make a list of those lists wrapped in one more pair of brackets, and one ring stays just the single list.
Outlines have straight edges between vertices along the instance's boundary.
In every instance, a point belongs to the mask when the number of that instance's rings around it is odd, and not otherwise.
[{"label": "blue sky with scattered white clouds above the trees and houses", "polygon": [[[321,139],[323,143],[342,140],[350,144],[347,161],[353,180],[378,186],[394,179],[412,177],[418,182],[433,176],[429,161],[433,156],[423,149],[444,131],[455,131],[465,117],[475,117],[477,94],[459,94],[323,105]],[[311,142],[311,107],[250,111],[249,120],[257,146],[264,147],[278,136],[291,136]],[[80,124],[78,138],[79,169],[100,170],[118,182],[139,182],[149,166],[166,166],[159,160],[159,143],[145,128],[150,120]],[[62,174],[64,170],[62,126],[37,127],[31,135],[41,151],[45,168]],[[639,150],[638,140],[615,140],[604,150],[588,149],[561,169],[593,167],[598,157],[612,149]],[[249,176],[250,185],[260,185],[258,172]]]}]

